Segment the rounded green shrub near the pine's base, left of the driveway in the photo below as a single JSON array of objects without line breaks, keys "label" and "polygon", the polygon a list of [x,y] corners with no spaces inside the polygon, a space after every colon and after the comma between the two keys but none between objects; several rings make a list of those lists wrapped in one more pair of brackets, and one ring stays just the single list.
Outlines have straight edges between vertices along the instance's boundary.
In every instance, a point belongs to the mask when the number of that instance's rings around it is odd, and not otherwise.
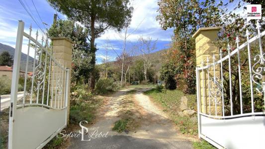
[{"label": "rounded green shrub near the pine's base, left of the driveway", "polygon": [[111,78],[100,78],[95,84],[96,94],[105,94],[118,88],[118,85]]}]

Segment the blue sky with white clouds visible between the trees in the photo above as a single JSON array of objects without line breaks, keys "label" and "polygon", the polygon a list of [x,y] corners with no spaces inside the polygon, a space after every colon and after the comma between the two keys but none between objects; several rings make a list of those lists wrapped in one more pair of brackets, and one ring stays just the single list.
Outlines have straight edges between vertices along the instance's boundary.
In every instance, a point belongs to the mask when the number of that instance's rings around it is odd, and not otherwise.
[{"label": "blue sky with white clouds visible between the trees", "polygon": [[[56,11],[49,5],[46,0],[33,0],[37,11],[33,5],[32,0],[21,0],[27,7],[29,12],[34,16],[39,26],[32,20],[28,15],[26,10],[22,7],[19,0],[1,0],[0,3],[0,43],[15,47],[15,38],[17,32],[18,20],[23,20],[25,22],[25,32],[29,32],[29,26],[32,24],[32,36],[35,36],[36,30],[45,31],[49,28],[49,25],[53,23],[53,15]],[[226,1],[226,0],[225,0]],[[237,1],[237,0],[236,0]],[[232,6],[232,5],[231,5]],[[171,42],[171,36],[173,36],[173,29],[168,29],[167,31],[160,28],[159,23],[156,21],[156,16],[158,14],[157,0],[133,0],[133,17],[128,33],[133,32],[138,28],[132,35],[128,38],[127,50],[129,51],[131,47],[137,42],[139,36],[151,37],[157,40],[157,49],[159,51],[168,48]],[[59,12],[57,12],[60,19],[67,19],[67,17]],[[47,25],[43,25],[42,21]],[[39,35],[43,33],[39,31]],[[107,39],[109,40],[109,46],[111,45],[113,49],[120,54],[123,47],[123,40],[120,37],[121,33],[117,33],[113,30],[107,30],[100,38],[96,39],[96,46],[98,51],[96,52],[97,64],[102,63],[102,58],[105,56],[105,46],[107,44]],[[40,36],[39,36],[40,37]],[[40,39],[40,38],[39,38]],[[22,46],[22,52],[26,53],[27,42],[24,40]],[[32,56],[32,54],[30,54]],[[115,60],[117,56],[112,50],[108,51],[108,59]]]}]

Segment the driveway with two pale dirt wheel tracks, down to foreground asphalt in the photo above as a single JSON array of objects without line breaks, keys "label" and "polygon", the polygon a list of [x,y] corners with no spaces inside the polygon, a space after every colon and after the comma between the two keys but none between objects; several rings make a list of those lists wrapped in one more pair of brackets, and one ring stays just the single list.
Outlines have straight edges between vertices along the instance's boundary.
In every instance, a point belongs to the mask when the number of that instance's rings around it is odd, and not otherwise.
[{"label": "driveway with two pale dirt wheel tracks, down to foreground asphalt", "polygon": [[[177,132],[176,125],[143,92],[150,88],[137,89],[133,93],[135,108],[141,107],[141,125],[137,130],[117,133],[112,131],[113,124],[119,120],[119,112],[129,89],[106,96],[106,103],[97,113],[97,121],[88,128],[88,134],[95,131],[107,137],[91,138],[81,141],[81,137],[72,138],[69,149],[192,149],[190,138]],[[77,130],[78,131],[78,130]],[[84,135],[84,140],[89,135]]]}]

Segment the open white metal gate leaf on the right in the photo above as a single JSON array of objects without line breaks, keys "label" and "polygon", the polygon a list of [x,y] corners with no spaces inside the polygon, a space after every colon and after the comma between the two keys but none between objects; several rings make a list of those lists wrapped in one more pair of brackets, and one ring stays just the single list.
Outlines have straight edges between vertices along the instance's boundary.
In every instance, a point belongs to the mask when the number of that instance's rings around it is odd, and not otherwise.
[{"label": "open white metal gate leaf on the right", "polygon": [[265,148],[265,31],[256,26],[196,68],[199,138],[219,149]]}]

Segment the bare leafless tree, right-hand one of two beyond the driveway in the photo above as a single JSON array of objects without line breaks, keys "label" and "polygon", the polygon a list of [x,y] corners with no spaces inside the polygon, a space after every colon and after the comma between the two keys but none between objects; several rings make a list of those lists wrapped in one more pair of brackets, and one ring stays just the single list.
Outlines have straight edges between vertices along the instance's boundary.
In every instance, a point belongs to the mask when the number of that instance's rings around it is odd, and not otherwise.
[{"label": "bare leafless tree, right-hand one of two beyond the driveway", "polygon": [[147,82],[147,70],[151,66],[151,61],[150,61],[150,54],[156,49],[156,43],[157,40],[152,41],[151,37],[139,37],[138,39],[138,44],[136,45],[137,50],[139,51],[140,57],[144,62],[144,76],[145,76],[145,81]]}]

